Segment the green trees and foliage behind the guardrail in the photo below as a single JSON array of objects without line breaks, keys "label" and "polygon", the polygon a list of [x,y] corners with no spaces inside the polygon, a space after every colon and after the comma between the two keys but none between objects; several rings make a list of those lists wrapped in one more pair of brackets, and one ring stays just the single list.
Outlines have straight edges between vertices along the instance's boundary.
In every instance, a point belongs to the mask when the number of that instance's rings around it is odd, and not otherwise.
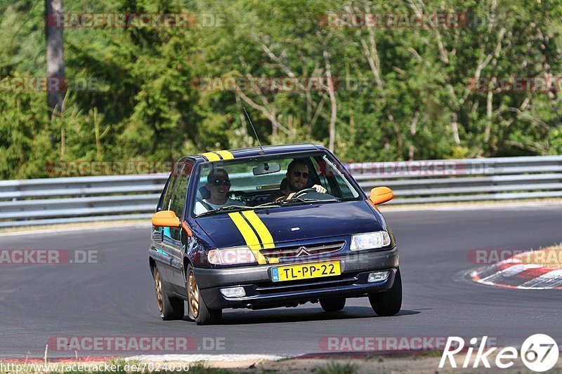
[{"label": "green trees and foliage behind the guardrail", "polygon": [[[481,76],[561,76],[561,1],[65,0],[65,13],[208,13],[221,27],[65,29],[70,81],[46,94],[0,88],[0,178],[43,178],[53,161],[176,160],[316,142],[345,161],[562,154],[561,84],[475,92]],[[457,28],[331,28],[327,12],[470,13]],[[0,1],[0,79],[45,76],[43,0]],[[360,91],[200,91],[205,76],[362,79]]]}]

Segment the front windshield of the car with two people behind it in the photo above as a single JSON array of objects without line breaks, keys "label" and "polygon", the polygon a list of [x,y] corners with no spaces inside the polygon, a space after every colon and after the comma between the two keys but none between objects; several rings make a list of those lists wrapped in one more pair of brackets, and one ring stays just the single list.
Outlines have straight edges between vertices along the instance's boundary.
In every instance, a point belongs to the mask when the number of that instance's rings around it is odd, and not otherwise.
[{"label": "front windshield of the car with two people behind it", "polygon": [[323,152],[202,163],[192,213],[362,199],[342,168]]}]

